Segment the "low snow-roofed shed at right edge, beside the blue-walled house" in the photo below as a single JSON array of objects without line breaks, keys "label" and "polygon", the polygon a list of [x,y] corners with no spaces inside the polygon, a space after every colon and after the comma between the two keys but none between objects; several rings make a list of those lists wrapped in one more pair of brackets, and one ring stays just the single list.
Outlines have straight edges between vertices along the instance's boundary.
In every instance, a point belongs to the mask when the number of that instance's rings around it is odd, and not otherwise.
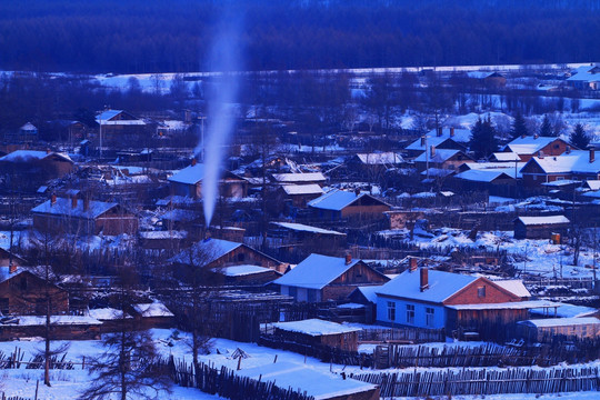
[{"label": "low snow-roofed shed at right edge, beside the blue-walled house", "polygon": [[521,336],[533,341],[549,341],[554,336],[586,339],[600,337],[600,320],[594,317],[546,318],[521,321],[518,324]]}]

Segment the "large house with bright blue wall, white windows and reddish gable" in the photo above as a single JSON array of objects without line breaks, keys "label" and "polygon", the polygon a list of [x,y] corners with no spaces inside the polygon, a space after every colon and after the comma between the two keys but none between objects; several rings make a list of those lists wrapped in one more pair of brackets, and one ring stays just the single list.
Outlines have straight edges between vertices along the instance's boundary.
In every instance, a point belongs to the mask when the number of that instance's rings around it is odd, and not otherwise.
[{"label": "large house with bright blue wall, white windows and reddish gable", "polygon": [[377,292],[377,321],[389,326],[483,330],[513,323],[542,307],[521,301],[513,293],[483,277],[411,268]]}]

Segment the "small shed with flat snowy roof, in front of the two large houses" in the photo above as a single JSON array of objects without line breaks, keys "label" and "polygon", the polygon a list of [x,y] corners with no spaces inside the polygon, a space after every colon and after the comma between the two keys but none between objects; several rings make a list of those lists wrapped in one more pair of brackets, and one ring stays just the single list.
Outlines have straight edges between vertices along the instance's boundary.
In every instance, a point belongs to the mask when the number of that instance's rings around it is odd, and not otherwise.
[{"label": "small shed with flat snowy roof, in front of the two large houses", "polygon": [[360,328],[344,327],[337,322],[308,319],[273,323],[274,336],[283,340],[309,346],[328,346],[341,350],[358,350]]}]

